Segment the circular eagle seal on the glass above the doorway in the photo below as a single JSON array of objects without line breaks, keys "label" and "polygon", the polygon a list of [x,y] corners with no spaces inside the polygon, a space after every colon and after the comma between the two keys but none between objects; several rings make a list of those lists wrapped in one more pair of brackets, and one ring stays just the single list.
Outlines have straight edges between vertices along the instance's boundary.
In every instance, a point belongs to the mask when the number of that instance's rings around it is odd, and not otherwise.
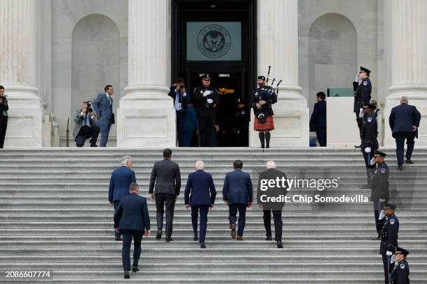
[{"label": "circular eagle seal on the glass above the doorway", "polygon": [[200,30],[197,47],[204,56],[220,58],[230,50],[230,33],[219,24],[209,24]]}]

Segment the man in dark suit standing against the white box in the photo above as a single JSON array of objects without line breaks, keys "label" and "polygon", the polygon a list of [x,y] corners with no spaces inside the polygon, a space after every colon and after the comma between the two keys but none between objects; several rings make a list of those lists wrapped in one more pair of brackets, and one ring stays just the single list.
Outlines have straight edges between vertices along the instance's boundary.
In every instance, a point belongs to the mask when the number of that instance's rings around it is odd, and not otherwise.
[{"label": "man in dark suit standing against the white box", "polygon": [[317,102],[314,105],[313,113],[310,118],[310,127],[315,129],[317,141],[320,147],[326,147],[327,131],[326,131],[326,95],[323,92],[316,94]]}]

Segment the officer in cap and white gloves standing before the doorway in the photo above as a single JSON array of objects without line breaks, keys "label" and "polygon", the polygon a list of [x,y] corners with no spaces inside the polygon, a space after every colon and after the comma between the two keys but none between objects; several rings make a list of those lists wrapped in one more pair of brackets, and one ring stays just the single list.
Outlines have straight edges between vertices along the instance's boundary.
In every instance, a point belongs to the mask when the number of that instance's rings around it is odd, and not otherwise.
[{"label": "officer in cap and white gloves standing before the doorway", "polygon": [[212,145],[213,120],[218,100],[218,90],[211,86],[210,75],[204,74],[202,86],[198,86],[193,91],[201,147],[210,147]]}]

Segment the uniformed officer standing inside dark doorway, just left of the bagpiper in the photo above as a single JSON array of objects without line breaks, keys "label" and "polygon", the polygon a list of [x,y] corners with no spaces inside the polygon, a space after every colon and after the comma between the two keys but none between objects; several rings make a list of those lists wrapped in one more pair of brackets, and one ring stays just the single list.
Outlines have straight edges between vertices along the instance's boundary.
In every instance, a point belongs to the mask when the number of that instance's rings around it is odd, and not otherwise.
[{"label": "uniformed officer standing inside dark doorway, just left of the bagpiper", "polygon": [[244,99],[237,99],[237,111],[234,116],[233,129],[237,147],[248,147],[250,111]]}]

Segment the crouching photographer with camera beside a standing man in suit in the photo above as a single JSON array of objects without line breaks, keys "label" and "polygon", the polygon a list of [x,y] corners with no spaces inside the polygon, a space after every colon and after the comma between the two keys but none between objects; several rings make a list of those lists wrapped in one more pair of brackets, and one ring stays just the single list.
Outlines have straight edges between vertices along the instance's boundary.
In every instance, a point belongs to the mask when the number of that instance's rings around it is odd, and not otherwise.
[{"label": "crouching photographer with camera beside a standing man in suit", "polygon": [[75,145],[82,147],[84,142],[90,138],[91,147],[98,147],[96,140],[98,139],[100,128],[91,101],[83,102],[82,109],[75,112],[74,122],[73,136],[75,137]]}]

